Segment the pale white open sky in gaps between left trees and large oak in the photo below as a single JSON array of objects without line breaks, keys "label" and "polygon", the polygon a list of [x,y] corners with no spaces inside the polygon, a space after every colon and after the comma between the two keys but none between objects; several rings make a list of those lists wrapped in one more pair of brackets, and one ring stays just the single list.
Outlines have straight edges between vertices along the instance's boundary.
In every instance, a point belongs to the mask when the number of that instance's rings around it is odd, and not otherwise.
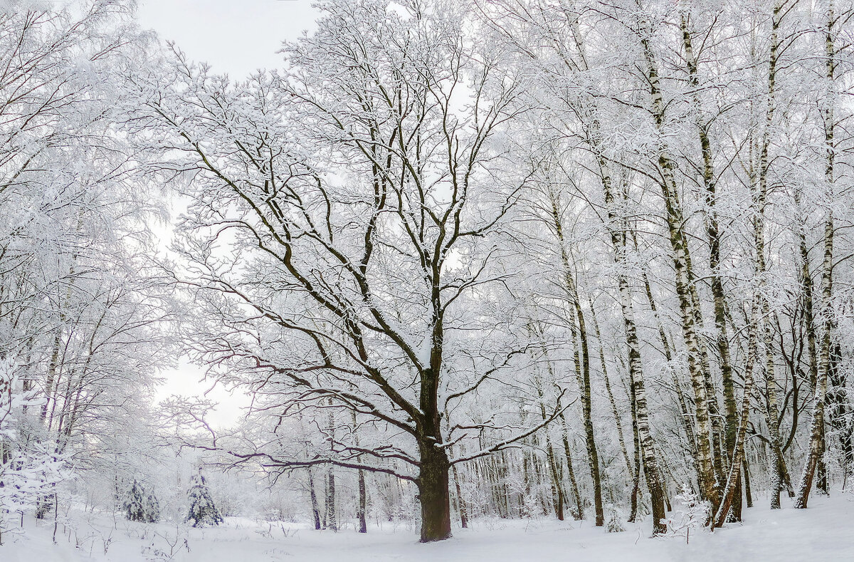
[{"label": "pale white open sky in gaps between left trees and large oak", "polygon": [[[139,0],[143,28],[178,47],[196,61],[208,62],[213,72],[242,79],[259,68],[278,66],[282,41],[311,30],[318,10],[313,0]],[[166,245],[167,241],[164,241]],[[231,395],[213,381],[202,381],[202,369],[181,360],[178,368],[162,373],[167,382],[158,398],[202,395],[219,402],[214,425],[232,424],[248,404],[243,395]],[[212,388],[213,387],[213,388]]]}]

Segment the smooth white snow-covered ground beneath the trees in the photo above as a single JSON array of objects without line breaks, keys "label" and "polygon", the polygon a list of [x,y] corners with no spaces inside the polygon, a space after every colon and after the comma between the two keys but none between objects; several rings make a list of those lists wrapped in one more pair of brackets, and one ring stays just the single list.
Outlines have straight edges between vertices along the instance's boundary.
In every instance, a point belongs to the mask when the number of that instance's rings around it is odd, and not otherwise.
[{"label": "smooth white snow-covered ground beneath the trees", "polygon": [[[59,526],[25,519],[26,535],[3,537],[2,562],[834,562],[854,560],[854,496],[836,494],[810,500],[810,509],[785,502],[771,512],[763,506],[745,510],[745,523],[714,534],[650,538],[650,522],[606,533],[589,521],[479,520],[456,529],[452,539],[419,544],[416,530],[371,528],[366,535],[352,527],[338,533],[298,524],[266,524],[228,518],[216,528],[191,529],[169,524],[114,522],[107,517]],[[177,541],[176,541],[177,537]],[[186,543],[184,543],[186,539]],[[79,545],[79,547],[77,546]],[[188,550],[189,547],[189,550]]]}]

